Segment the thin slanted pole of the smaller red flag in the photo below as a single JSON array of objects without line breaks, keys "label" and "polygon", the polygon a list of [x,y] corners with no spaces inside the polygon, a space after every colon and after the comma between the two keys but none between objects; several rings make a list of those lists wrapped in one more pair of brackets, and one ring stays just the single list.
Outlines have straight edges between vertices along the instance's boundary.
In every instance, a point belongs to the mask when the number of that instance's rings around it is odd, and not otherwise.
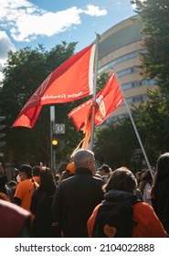
[{"label": "thin slanted pole of the smaller red flag", "polygon": [[[113,70],[114,70],[114,69],[113,69]],[[114,74],[115,74],[115,71],[114,71]],[[120,89],[121,89],[121,83],[119,82],[119,79],[118,79],[117,75],[116,75],[116,78],[117,78],[117,81],[118,81],[119,86],[120,86]],[[151,165],[150,165],[150,163],[149,163],[148,157],[147,157],[147,155],[146,155],[146,153],[145,153],[145,150],[144,150],[144,148],[143,148],[143,143],[142,143],[141,137],[140,137],[140,135],[139,135],[139,133],[138,133],[138,131],[137,131],[137,128],[136,128],[136,126],[135,126],[135,123],[134,123],[134,121],[133,121],[132,112],[131,112],[131,110],[130,110],[130,108],[129,108],[129,105],[128,105],[128,103],[127,103],[127,101],[126,101],[124,95],[123,95],[123,91],[122,91],[122,90],[121,90],[121,94],[122,94],[122,97],[123,97],[123,99],[124,99],[124,103],[125,103],[125,105],[126,105],[127,111],[128,111],[128,113],[129,113],[129,116],[130,116],[130,119],[131,119],[131,122],[132,122],[132,126],[133,126],[133,129],[134,129],[134,132],[135,132],[135,134],[136,134],[136,136],[137,136],[137,139],[138,139],[138,141],[139,141],[139,144],[140,144],[140,146],[141,146],[141,149],[142,149],[142,152],[143,152],[143,156],[144,156],[145,162],[146,162],[146,164],[147,164],[147,166],[148,166],[148,169],[150,170],[151,176],[153,177],[153,171],[152,171]]]}]

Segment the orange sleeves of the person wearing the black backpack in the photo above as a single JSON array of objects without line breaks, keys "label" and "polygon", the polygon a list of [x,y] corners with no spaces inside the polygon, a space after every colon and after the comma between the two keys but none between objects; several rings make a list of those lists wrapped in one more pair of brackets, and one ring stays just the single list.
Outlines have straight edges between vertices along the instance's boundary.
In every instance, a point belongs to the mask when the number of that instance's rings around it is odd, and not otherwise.
[{"label": "orange sleeves of the person wearing the black backpack", "polygon": [[[101,205],[101,204],[100,204]],[[94,208],[90,219],[88,220],[88,233],[92,237],[92,229],[100,208],[98,205]],[[166,238],[167,233],[160,220],[157,218],[153,208],[144,203],[136,203],[133,206],[133,219],[137,225],[132,229],[132,238]]]}]

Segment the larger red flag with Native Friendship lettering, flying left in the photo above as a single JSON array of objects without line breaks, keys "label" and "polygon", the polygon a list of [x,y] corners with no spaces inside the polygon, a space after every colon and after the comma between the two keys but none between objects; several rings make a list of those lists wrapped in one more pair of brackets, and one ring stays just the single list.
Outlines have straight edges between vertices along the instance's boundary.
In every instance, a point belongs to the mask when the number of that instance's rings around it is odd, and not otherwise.
[{"label": "larger red flag with Native Friendship lettering, flying left", "polygon": [[26,102],[12,127],[32,128],[43,105],[77,101],[93,93],[95,44],[82,49],[49,74]]}]

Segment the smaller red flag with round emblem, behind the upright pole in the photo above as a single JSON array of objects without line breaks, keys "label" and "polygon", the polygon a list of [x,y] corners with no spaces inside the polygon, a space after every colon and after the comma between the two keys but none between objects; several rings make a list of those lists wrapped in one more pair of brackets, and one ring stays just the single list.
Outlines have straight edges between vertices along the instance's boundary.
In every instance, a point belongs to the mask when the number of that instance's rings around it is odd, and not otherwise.
[{"label": "smaller red flag with round emblem, behind the upright pole", "polygon": [[[96,95],[95,125],[103,123],[123,101],[118,81],[112,73],[106,85]],[[92,99],[85,101],[69,112],[69,118],[73,120],[78,130],[84,131],[86,129],[86,123],[89,123],[91,105]]]}]

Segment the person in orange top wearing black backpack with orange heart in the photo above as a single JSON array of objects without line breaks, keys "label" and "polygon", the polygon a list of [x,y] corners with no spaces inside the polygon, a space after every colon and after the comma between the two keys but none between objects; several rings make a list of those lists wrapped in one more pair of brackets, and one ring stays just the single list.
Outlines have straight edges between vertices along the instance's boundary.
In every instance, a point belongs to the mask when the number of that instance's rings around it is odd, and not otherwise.
[{"label": "person in orange top wearing black backpack with orange heart", "polygon": [[165,238],[167,233],[153,208],[134,195],[135,176],[122,168],[103,187],[105,199],[88,220],[89,237]]}]

